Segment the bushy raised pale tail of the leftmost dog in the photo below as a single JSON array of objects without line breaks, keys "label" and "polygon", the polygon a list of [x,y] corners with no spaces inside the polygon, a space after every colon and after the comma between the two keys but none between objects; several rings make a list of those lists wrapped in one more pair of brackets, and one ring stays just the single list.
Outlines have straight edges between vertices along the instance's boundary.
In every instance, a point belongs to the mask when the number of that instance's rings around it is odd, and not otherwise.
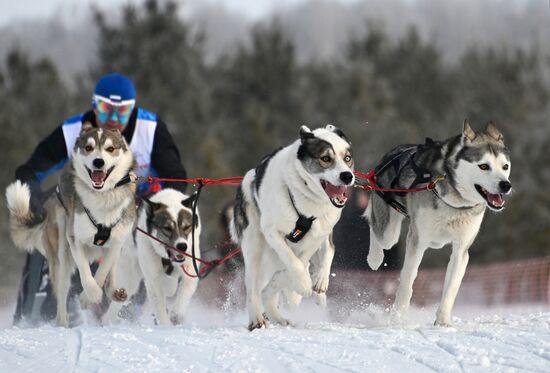
[{"label": "bushy raised pale tail of the leftmost dog", "polygon": [[10,233],[15,246],[32,252],[42,247],[42,234],[44,222],[32,223],[30,209],[31,191],[27,184],[16,180],[6,189],[6,200],[10,210]]}]

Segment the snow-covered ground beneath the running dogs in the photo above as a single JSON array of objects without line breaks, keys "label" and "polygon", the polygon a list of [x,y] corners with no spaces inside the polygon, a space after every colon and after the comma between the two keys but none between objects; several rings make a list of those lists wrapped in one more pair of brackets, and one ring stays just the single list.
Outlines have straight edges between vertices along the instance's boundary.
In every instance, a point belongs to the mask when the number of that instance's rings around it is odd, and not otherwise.
[{"label": "snow-covered ground beneath the running dogs", "polygon": [[[243,310],[194,304],[184,326],[11,327],[4,308],[1,372],[550,372],[547,305],[455,310],[434,327],[435,306],[396,319],[376,306],[345,313],[304,303],[293,327],[248,332]],[[222,308],[223,309],[223,308]],[[345,318],[342,319],[342,315]],[[339,315],[339,316],[334,316]]]}]

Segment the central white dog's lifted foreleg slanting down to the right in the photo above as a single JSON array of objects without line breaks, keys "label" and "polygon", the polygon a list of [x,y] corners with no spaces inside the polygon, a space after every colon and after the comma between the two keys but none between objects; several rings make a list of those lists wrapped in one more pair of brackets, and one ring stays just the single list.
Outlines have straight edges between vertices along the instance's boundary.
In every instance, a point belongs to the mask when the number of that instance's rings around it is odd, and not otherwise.
[{"label": "central white dog's lifted foreleg slanting down to the right", "polygon": [[266,240],[287,268],[289,276],[293,279],[294,290],[304,297],[310,297],[313,285],[308,266],[294,254],[283,236],[276,230],[266,229]]}]

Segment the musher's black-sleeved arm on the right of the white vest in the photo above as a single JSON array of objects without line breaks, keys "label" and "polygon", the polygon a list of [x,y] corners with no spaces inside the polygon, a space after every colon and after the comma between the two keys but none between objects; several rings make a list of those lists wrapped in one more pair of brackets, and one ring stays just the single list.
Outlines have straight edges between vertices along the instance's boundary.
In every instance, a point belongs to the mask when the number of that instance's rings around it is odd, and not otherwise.
[{"label": "musher's black-sleeved arm on the right of the white vest", "polygon": [[[163,121],[157,121],[151,166],[159,177],[171,179],[186,179],[187,172],[181,164],[180,154],[172,135]],[[164,182],[164,188],[172,188],[185,193],[187,183]]]}]

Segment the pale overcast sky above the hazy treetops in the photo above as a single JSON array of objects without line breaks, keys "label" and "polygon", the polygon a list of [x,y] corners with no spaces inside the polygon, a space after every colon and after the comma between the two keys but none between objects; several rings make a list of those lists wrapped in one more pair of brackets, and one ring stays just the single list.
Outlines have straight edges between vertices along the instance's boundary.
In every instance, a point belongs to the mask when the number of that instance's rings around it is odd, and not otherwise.
[{"label": "pale overcast sky above the hazy treetops", "polygon": [[[121,4],[141,3],[143,0],[2,0],[0,26],[16,20],[51,18],[61,14],[63,19],[70,19],[83,14],[90,4],[97,4],[102,9],[119,8]],[[226,8],[239,12],[248,18],[256,19],[270,13],[273,9],[284,8],[303,3],[306,0],[179,0],[184,7],[198,6],[199,3],[223,4]],[[330,1],[330,0],[329,0]],[[354,2],[357,0],[332,0]]]}]

